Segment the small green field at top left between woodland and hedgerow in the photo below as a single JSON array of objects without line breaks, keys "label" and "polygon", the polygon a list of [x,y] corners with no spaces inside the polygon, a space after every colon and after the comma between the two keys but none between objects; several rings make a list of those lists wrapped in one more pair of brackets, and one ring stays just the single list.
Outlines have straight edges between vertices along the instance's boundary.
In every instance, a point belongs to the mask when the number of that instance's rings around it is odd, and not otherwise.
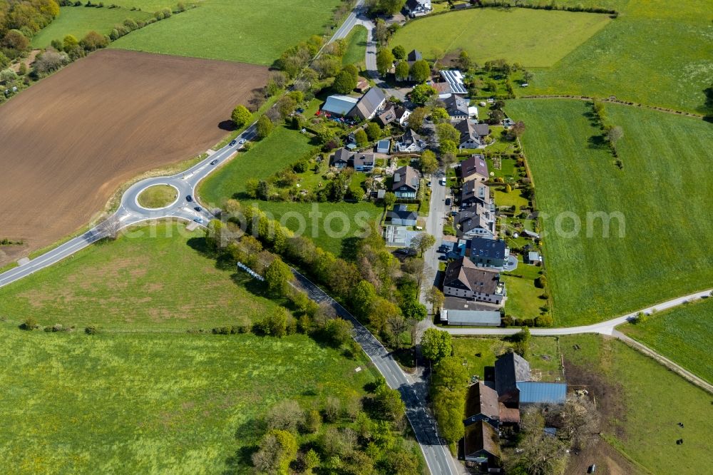
[{"label": "small green field at top left between woodland and hedgerow", "polygon": [[33,48],[46,48],[52,40],[62,40],[66,35],[74,35],[81,40],[89,31],[109,34],[114,25],[122,24],[125,19],[145,20],[153,14],[128,9],[101,9],[86,6],[63,6],[59,16],[46,28],[39,31],[32,39]]}]

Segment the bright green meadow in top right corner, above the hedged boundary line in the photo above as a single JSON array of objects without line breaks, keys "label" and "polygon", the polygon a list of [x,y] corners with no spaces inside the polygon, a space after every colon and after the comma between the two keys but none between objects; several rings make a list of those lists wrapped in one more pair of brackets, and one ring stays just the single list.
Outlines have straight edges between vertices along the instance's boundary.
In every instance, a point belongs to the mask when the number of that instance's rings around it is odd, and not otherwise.
[{"label": "bright green meadow in top right corner, above the hedged boundary line", "polygon": [[713,74],[711,22],[701,2],[679,1],[675,9],[664,0],[616,3],[618,19],[551,68],[535,71],[530,87],[516,91],[614,95],[701,112]]}]

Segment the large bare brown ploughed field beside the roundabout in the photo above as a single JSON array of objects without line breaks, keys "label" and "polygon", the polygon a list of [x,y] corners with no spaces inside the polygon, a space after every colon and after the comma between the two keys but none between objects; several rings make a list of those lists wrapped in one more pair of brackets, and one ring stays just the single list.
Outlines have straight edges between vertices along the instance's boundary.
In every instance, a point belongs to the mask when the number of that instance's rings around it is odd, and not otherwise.
[{"label": "large bare brown ploughed field beside the roundabout", "polygon": [[0,106],[0,239],[26,254],[81,228],[121,183],[214,145],[266,82],[262,66],[99,51],[32,86]]}]

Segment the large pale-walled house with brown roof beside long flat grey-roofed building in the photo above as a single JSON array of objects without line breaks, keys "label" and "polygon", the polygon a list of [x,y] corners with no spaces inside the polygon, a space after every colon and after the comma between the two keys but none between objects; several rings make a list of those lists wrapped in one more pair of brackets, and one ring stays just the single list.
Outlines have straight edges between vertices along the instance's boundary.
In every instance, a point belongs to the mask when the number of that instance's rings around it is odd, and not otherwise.
[{"label": "large pale-walled house with brown roof beside long flat grey-roofed building", "polygon": [[461,257],[446,267],[443,294],[500,305],[505,296],[505,285],[500,282],[497,270],[477,267],[471,260]]}]

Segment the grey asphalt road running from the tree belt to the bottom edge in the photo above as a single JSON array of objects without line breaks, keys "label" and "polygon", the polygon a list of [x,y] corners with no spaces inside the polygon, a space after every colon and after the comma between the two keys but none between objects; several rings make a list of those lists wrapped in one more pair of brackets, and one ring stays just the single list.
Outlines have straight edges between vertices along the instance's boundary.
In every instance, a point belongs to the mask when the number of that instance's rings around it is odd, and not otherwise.
[{"label": "grey asphalt road running from the tree belt to the bottom edge", "polygon": [[310,299],[317,303],[327,303],[337,312],[339,317],[352,322],[352,325],[354,325],[354,340],[359,343],[366,355],[371,359],[371,362],[374,363],[376,369],[384,376],[386,384],[389,384],[391,389],[397,389],[401,393],[401,399],[406,404],[406,417],[414,429],[416,440],[421,445],[421,450],[424,453],[426,464],[429,466],[431,474],[458,474],[458,467],[455,466],[451,452],[448,451],[448,446],[443,444],[443,441],[438,436],[436,421],[426,411],[426,402],[419,395],[424,392],[417,385],[424,383],[414,381],[414,379],[404,374],[394,357],[386,351],[386,348],[379,340],[364,325],[361,325],[359,320],[356,320],[351,313],[347,312],[342,305],[339,305],[339,302],[329,297],[326,292],[296,270],[293,269],[292,273],[297,279],[297,286],[304,290]]}]

